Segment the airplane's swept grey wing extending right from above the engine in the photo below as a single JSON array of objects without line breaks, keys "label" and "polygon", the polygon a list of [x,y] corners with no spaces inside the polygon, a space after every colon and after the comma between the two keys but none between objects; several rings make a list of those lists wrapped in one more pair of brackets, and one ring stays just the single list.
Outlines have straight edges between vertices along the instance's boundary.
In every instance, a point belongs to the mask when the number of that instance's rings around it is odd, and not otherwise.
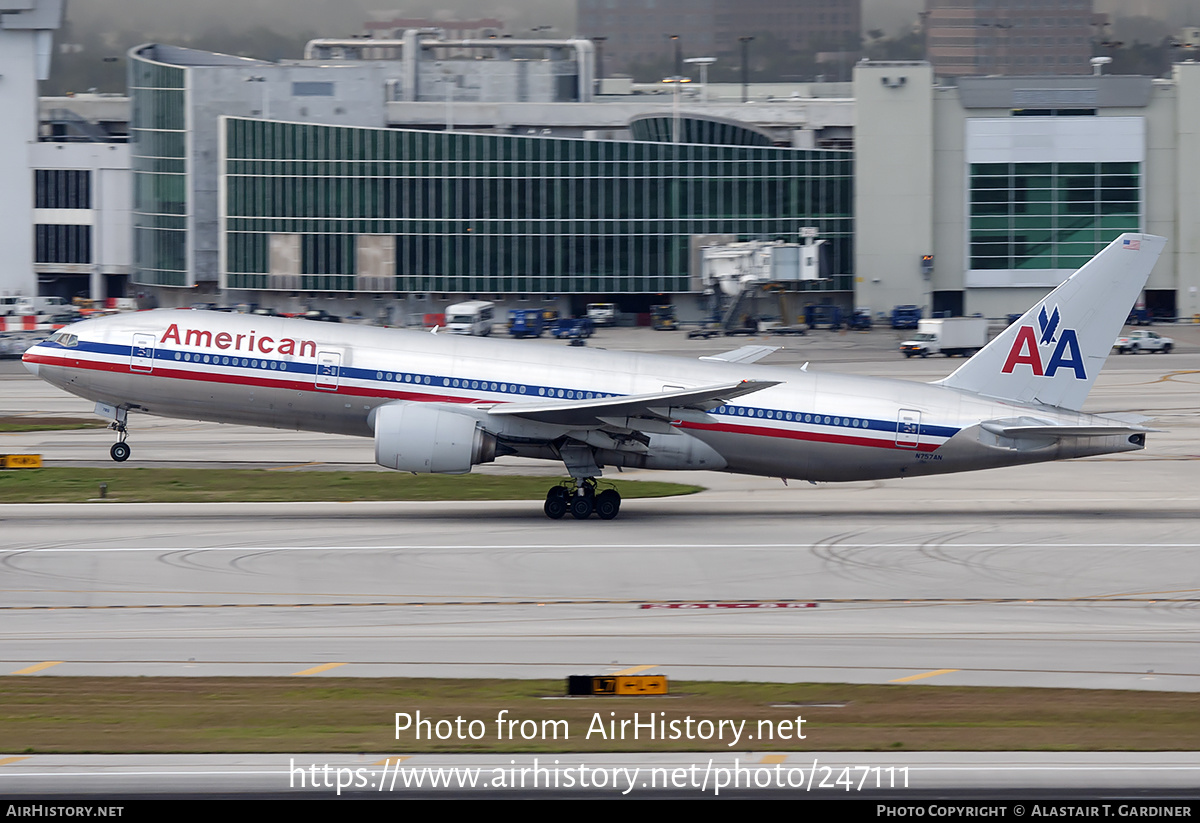
[{"label": "airplane's swept grey wing extending right from above the engine", "polygon": [[588,400],[534,403],[504,403],[488,410],[496,416],[516,416],[560,426],[602,426],[606,417],[668,419],[672,410],[694,409],[703,412],[726,401],[778,386],[779,380],[740,380],[697,389],[672,389],[652,395],[625,395],[622,397],[594,397]]}]

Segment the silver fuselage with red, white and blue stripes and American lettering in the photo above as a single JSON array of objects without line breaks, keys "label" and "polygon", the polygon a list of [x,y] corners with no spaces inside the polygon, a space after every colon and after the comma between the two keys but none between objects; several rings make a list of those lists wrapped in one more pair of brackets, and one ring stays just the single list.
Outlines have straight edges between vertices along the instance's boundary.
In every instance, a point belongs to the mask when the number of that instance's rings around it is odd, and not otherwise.
[{"label": "silver fuselage with red, white and blue stripes and American lettering", "polygon": [[587,433],[488,417],[487,410],[731,380],[779,382],[707,413],[680,413],[671,433],[648,435],[646,450],[598,447],[601,465],[846,481],[1141,447],[1116,428],[1103,437],[997,437],[980,423],[1116,421],[907,380],[221,312],[140,312],[72,330],[74,347],[42,344],[26,362],[55,385],[114,407],[372,437],[376,408],[439,403],[492,427],[509,453],[548,459],[558,459],[556,441]]}]

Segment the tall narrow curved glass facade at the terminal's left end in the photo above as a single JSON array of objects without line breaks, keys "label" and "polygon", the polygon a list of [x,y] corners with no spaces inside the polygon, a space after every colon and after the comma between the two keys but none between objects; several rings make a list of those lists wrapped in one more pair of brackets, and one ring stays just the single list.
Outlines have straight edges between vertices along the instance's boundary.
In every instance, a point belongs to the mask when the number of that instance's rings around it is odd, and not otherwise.
[{"label": "tall narrow curved glass facade at the terminal's left end", "polygon": [[134,283],[191,286],[185,70],[130,60]]}]

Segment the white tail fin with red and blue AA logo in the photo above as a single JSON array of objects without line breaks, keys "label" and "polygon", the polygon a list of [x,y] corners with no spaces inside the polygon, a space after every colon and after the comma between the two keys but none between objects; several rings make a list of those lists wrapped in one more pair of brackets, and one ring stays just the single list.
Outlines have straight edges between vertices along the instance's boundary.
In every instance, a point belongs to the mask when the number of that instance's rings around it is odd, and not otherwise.
[{"label": "white tail fin with red and blue AA logo", "polygon": [[1122,234],[941,385],[1080,409],[1166,245]]}]

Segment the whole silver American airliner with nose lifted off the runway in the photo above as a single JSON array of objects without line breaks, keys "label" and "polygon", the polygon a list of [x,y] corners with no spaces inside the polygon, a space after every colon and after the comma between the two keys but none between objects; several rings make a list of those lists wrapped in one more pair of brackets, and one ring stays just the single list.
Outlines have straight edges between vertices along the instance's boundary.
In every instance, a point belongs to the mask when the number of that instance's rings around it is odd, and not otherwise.
[{"label": "whole silver American airliner with nose lifted off the runway", "polygon": [[612,519],[602,467],[844,481],[1142,449],[1136,421],[1080,409],[1165,239],[1123,234],[931,384],[517,341],[161,310],[71,325],[24,355],[96,401],[130,457],[130,412],[374,438],[390,469],[562,461],[545,512]]}]

